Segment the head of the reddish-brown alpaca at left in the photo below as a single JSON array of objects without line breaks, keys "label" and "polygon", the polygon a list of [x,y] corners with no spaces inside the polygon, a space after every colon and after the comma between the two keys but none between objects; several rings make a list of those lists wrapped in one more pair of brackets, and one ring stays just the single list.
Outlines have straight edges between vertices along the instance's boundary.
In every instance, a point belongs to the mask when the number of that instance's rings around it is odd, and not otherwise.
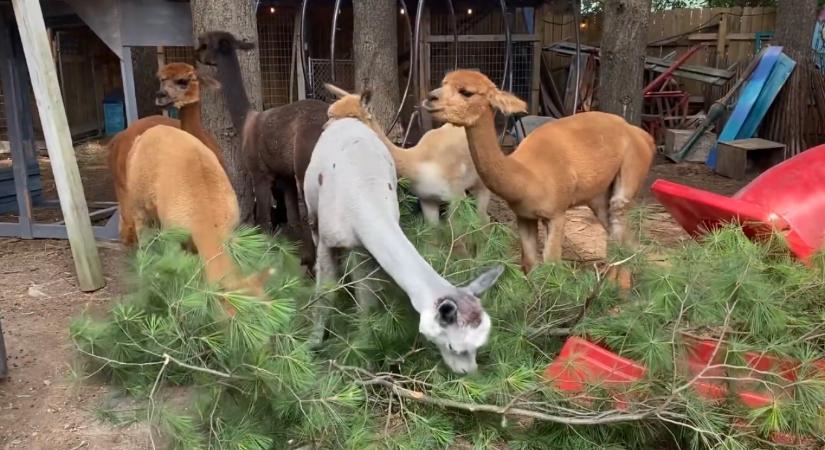
[{"label": "head of the reddish-brown alpaca at left", "polygon": [[194,67],[185,63],[167,64],[158,70],[160,89],[155,95],[155,104],[160,107],[174,105],[181,108],[201,99],[201,86],[216,89],[217,81],[199,75]]}]

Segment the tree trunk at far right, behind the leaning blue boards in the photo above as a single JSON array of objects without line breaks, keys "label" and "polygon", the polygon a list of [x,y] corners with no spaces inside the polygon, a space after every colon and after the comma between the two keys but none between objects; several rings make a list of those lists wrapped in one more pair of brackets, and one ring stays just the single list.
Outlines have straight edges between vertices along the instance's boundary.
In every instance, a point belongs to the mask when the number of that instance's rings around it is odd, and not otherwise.
[{"label": "tree trunk at far right, behind the leaning blue boards", "polygon": [[817,18],[816,0],[782,0],[777,3],[776,32],[772,43],[784,46],[783,52],[793,60],[809,58]]}]

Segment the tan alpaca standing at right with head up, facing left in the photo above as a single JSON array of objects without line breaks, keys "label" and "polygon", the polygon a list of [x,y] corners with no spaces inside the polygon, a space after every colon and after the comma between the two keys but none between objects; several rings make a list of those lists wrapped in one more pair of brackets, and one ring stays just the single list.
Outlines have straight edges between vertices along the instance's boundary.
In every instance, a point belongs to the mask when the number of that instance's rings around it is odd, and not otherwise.
[{"label": "tan alpaca standing at right with head up, facing left", "polygon": [[610,238],[625,242],[625,216],[655,152],[653,139],[641,128],[612,114],[577,114],[542,125],[505,156],[493,108],[513,114],[524,112],[526,104],[498,90],[483,74],[447,74],[424,107],[441,120],[465,127],[482,181],[517,216],[525,272],[538,260],[538,222],[547,231],[544,261],[561,259],[564,213],[577,205],[589,206]]}]

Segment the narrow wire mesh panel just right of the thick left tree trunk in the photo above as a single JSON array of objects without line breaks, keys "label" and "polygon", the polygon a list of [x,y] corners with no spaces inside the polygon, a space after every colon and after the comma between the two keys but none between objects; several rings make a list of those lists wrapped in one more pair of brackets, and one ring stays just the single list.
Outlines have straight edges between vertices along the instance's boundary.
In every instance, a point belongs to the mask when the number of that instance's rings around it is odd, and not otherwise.
[{"label": "narrow wire mesh panel just right of the thick left tree trunk", "polygon": [[294,12],[287,8],[265,9],[258,15],[261,89],[264,109],[289,103]]}]

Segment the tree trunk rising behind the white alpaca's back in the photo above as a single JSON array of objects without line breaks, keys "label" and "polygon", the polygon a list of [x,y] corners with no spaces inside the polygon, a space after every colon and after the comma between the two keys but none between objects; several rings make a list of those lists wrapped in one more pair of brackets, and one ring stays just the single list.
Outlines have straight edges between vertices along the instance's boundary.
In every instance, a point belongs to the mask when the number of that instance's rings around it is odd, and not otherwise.
[{"label": "tree trunk rising behind the white alpaca's back", "polygon": [[385,129],[398,110],[398,2],[353,2],[355,87],[372,91],[372,112]]}]

